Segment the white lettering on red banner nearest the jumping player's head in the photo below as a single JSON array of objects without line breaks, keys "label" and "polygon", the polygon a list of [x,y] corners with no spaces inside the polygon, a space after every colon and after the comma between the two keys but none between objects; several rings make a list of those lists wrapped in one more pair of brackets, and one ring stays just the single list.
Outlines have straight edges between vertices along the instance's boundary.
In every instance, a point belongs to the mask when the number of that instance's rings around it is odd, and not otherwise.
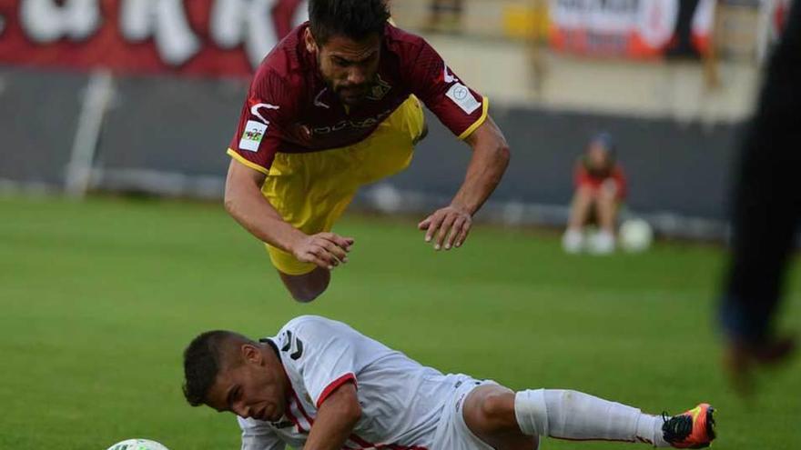
[{"label": "white lettering on red banner nearest the jumping player's head", "polygon": [[[244,44],[250,65],[258,67],[264,56],[278,44],[275,25],[269,20],[278,1],[218,0],[209,24],[211,38],[222,48]],[[303,23],[307,16],[307,8],[299,7],[292,25]]]}]

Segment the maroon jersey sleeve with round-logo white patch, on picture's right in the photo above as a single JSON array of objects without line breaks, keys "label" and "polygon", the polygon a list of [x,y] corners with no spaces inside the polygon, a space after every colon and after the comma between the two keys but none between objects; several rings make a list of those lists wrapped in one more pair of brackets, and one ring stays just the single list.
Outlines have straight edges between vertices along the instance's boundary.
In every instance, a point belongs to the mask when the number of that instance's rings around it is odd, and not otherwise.
[{"label": "maroon jersey sleeve with round-logo white patch, on picture's right", "polygon": [[431,45],[422,40],[420,52],[410,59],[412,93],[454,135],[464,139],[487,120],[489,99],[461,81]]}]

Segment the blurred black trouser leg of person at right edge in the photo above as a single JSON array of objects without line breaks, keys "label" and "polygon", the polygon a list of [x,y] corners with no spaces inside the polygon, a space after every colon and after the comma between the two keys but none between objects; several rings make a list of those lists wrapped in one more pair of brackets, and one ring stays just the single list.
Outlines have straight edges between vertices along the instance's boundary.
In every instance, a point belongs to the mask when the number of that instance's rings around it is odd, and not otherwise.
[{"label": "blurred black trouser leg of person at right edge", "polygon": [[773,332],[801,217],[801,2],[768,64],[734,198],[720,319],[727,335],[756,344]]}]

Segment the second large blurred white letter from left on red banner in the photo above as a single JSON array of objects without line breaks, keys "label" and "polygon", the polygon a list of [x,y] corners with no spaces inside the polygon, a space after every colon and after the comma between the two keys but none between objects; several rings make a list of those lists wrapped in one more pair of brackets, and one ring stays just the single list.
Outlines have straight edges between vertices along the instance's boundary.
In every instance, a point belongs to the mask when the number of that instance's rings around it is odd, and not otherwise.
[{"label": "second large blurred white letter from left on red banner", "polygon": [[181,0],[123,0],[120,30],[134,42],[154,38],[170,65],[182,65],[200,50]]}]

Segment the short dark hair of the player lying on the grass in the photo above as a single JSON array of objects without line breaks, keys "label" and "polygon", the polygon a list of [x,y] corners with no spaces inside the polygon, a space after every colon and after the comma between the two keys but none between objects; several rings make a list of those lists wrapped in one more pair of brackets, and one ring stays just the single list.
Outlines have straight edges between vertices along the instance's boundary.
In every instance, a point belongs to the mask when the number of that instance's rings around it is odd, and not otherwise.
[{"label": "short dark hair of the player lying on the grass", "polygon": [[214,385],[223,365],[231,365],[235,359],[226,357],[231,348],[241,344],[255,344],[243,335],[231,331],[207,331],[198,335],[184,350],[184,396],[189,405],[206,403],[208,390]]}]

